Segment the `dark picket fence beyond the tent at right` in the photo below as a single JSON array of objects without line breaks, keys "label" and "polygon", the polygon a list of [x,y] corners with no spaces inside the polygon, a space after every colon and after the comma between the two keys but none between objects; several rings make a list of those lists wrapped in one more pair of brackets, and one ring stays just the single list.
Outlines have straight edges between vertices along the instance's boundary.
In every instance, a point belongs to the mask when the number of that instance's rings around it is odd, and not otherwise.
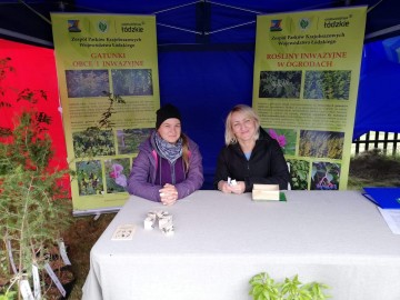
[{"label": "dark picket fence beyond the tent at right", "polygon": [[370,131],[352,142],[351,154],[381,149],[387,156],[400,154],[400,133]]}]

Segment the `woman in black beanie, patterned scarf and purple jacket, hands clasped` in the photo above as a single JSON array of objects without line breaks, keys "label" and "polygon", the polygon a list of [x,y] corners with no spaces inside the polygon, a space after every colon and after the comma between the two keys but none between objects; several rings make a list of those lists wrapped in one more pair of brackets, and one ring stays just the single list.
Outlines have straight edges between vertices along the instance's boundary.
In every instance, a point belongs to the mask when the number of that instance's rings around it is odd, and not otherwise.
[{"label": "woman in black beanie, patterned scarf and purple jacket, hands clasped", "polygon": [[156,131],[140,147],[128,180],[128,192],[171,206],[201,188],[199,147],[181,131],[172,104],[157,111]]}]

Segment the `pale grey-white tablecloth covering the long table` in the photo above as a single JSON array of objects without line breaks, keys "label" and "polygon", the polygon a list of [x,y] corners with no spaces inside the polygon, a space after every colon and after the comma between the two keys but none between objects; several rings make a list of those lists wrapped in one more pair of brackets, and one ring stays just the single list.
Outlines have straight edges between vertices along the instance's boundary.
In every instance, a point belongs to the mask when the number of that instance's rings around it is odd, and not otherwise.
[{"label": "pale grey-white tablecloth covering the long table", "polygon": [[[287,202],[251,193],[197,191],[172,207],[131,197],[93,246],[84,300],[246,300],[249,279],[331,287],[338,300],[400,299],[400,236],[358,191],[284,191]],[[148,211],[173,216],[174,236],[143,229]],[[129,241],[112,241],[120,224]]]}]

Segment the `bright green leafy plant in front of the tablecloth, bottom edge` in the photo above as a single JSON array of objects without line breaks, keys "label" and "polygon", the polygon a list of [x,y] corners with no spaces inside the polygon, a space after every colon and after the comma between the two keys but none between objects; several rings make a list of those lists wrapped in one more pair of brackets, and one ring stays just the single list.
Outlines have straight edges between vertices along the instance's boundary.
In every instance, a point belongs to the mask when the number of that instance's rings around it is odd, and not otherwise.
[{"label": "bright green leafy plant in front of the tablecloth, bottom edge", "polygon": [[249,294],[254,300],[324,300],[330,298],[324,293],[328,286],[319,282],[302,283],[296,274],[292,279],[286,278],[277,282],[268,273],[253,276],[250,281]]}]

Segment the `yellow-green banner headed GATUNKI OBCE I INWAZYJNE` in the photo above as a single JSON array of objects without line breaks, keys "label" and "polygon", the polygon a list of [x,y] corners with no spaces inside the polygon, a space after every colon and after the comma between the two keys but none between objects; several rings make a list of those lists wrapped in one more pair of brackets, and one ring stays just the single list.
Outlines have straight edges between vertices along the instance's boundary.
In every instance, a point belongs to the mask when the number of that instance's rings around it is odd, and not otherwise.
[{"label": "yellow-green banner headed GATUNKI OBCE I INWAZYJNE", "polygon": [[160,107],[154,16],[51,13],[74,214],[117,210]]}]

